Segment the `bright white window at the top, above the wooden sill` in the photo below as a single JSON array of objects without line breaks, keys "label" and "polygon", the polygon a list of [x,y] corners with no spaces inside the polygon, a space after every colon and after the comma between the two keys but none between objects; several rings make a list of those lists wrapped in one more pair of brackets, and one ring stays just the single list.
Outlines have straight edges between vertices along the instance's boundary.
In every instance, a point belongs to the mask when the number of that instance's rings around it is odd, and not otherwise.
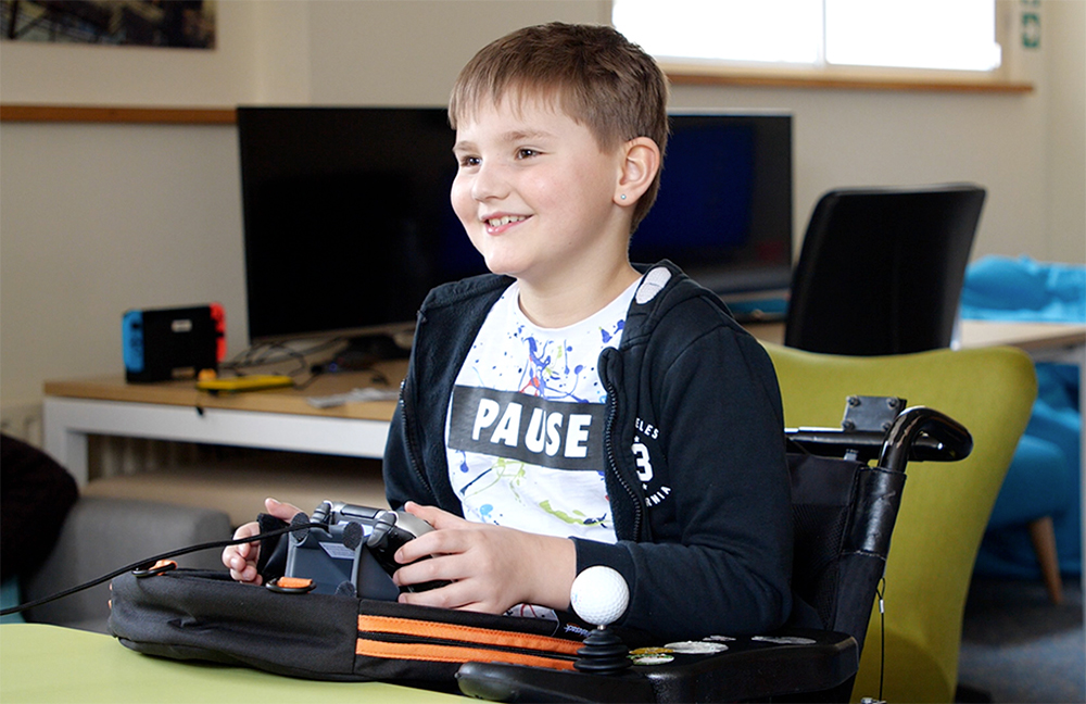
[{"label": "bright white window at the top, above the wooden sill", "polygon": [[614,0],[611,20],[661,60],[990,72],[995,0]]}]

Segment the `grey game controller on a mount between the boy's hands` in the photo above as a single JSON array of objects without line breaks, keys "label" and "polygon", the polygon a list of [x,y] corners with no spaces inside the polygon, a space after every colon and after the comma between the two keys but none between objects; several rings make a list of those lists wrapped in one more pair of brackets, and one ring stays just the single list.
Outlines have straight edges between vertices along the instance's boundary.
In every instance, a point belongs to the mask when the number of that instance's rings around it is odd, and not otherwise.
[{"label": "grey game controller on a mount between the boy's hands", "polygon": [[[395,601],[401,588],[392,574],[403,565],[394,555],[408,540],[430,530],[429,524],[404,511],[370,508],[325,501],[311,523],[323,524],[290,535],[287,577],[313,580],[317,593],[346,593],[365,599]],[[403,588],[425,591],[447,582]]]}]

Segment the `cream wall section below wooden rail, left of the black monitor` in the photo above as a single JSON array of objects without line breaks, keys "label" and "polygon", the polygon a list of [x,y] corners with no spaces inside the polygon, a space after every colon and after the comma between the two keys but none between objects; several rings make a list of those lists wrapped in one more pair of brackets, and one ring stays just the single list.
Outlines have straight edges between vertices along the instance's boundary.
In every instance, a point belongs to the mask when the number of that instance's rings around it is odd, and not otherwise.
[{"label": "cream wall section below wooden rail, left of the black monitor", "polygon": [[121,315],[219,301],[242,341],[232,127],[0,128],[0,402],[123,373]]}]

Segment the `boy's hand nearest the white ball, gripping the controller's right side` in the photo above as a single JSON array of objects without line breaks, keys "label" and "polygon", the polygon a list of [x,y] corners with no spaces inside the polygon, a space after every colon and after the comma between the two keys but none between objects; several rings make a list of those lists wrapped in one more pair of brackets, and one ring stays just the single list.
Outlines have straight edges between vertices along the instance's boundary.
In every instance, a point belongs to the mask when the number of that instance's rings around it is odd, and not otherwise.
[{"label": "boy's hand nearest the white ball, gripping the controller's right side", "polygon": [[[577,571],[573,541],[465,520],[434,506],[407,502],[404,508],[433,530],[396,551],[397,586],[431,580],[453,583],[404,593],[407,604],[503,614],[520,603],[569,608]],[[432,555],[416,564],[416,560]]]}]

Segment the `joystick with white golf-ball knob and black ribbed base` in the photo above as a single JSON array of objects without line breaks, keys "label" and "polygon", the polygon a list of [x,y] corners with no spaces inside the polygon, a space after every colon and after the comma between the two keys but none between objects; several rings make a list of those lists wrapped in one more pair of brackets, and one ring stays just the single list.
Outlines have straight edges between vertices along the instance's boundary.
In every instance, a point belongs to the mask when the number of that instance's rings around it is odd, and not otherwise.
[{"label": "joystick with white golf-ball knob and black ribbed base", "polygon": [[570,605],[578,616],[596,626],[577,651],[580,659],[573,667],[582,672],[607,675],[630,666],[629,649],[615,631],[607,628],[630,605],[630,588],[622,575],[604,565],[589,567],[573,580]]}]

